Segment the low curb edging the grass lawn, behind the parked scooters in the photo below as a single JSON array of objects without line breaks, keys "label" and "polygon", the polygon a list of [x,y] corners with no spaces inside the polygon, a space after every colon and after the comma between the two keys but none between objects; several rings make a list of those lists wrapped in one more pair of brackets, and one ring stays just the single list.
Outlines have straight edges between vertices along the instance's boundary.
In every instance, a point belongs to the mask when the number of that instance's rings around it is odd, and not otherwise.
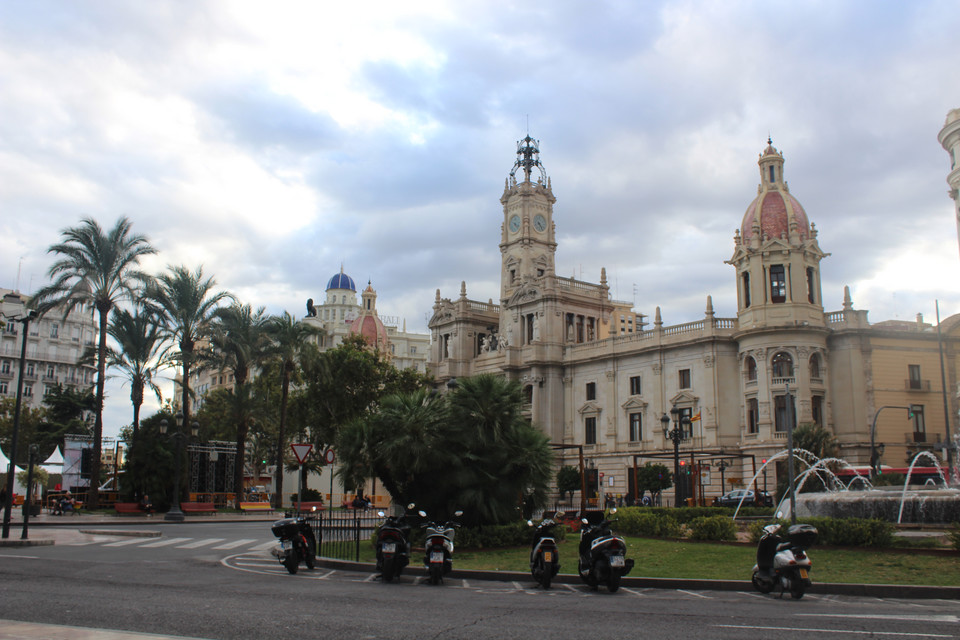
[{"label": "low curb edging the grass lawn, behind the parked scooters", "polygon": [[[332,558],[317,558],[317,565],[328,569],[342,569],[346,571],[376,572],[376,565],[365,562],[350,562]],[[519,571],[470,571],[454,569],[449,574],[451,578],[462,580],[487,580],[492,582],[531,582],[529,573]],[[580,578],[568,573],[557,574],[555,584],[580,584]],[[641,589],[695,589],[701,591],[753,591],[753,584],[749,580],[696,580],[687,578],[631,578],[624,576],[620,579],[624,587]],[[846,584],[840,582],[814,582],[807,593],[866,596],[874,598],[907,598],[907,599],[943,599],[960,600],[960,587],[937,587],[894,584]]]}]

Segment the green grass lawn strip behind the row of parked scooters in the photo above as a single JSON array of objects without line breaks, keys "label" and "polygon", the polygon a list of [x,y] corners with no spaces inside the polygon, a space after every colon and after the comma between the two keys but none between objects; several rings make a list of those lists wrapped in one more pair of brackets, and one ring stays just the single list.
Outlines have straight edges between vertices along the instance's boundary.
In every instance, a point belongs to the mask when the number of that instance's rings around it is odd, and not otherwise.
[{"label": "green grass lawn strip behind the row of parked scooters", "polygon": [[[625,538],[627,557],[636,561],[629,575],[646,578],[700,578],[749,580],[756,562],[756,547],[698,542],[676,542],[651,538]],[[559,543],[560,573],[577,570],[577,538]],[[453,564],[458,569],[492,571],[529,571],[529,549],[457,549]],[[904,584],[960,586],[960,554],[923,555],[888,550],[820,549],[810,550],[814,582],[853,584]],[[361,562],[374,562],[369,543],[360,548]],[[415,553],[410,569],[416,571],[421,557]]]}]

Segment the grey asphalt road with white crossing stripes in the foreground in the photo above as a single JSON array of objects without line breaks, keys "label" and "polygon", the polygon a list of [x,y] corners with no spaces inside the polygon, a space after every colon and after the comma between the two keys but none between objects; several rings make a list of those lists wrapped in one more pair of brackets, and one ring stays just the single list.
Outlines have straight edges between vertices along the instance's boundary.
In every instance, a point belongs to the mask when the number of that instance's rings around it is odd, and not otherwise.
[{"label": "grey asphalt road with white crossing stripes in the foreground", "polygon": [[262,522],[138,528],[161,535],[73,531],[53,546],[0,549],[0,620],[199,638],[960,637],[956,601],[543,591],[531,581],[431,586],[416,570],[392,584],[369,572],[302,568],[291,576],[269,556]]}]

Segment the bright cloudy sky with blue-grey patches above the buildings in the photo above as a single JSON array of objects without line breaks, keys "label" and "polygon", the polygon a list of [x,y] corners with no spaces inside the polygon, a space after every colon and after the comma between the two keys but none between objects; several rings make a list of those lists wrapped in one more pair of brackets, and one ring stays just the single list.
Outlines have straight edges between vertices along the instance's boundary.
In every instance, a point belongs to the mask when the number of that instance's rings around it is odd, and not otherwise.
[{"label": "bright cloudy sky with blue-grey patches above the buildings", "polygon": [[[349,6],[348,6],[349,5]],[[733,232],[768,136],[820,230],[823,298],[960,312],[949,158],[960,5],[0,0],[0,286],[46,283],[91,216],[244,302],[304,312],[340,265],[426,331],[499,295],[529,131],[557,271],[666,324],[736,314]],[[172,389],[172,385],[170,385]],[[129,420],[114,386],[106,433]]]}]

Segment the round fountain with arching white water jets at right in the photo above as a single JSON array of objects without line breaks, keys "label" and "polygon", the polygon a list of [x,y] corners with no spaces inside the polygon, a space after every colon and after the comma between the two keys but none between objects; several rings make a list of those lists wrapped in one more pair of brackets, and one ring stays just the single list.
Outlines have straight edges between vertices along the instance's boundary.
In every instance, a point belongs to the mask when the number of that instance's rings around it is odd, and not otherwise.
[{"label": "round fountain with arching white water jets at right", "polygon": [[[764,464],[747,486],[756,481],[767,464],[784,458],[788,455],[786,449],[771,456]],[[846,484],[836,476],[828,464],[838,464],[844,468],[853,468],[850,463],[841,458],[823,458],[803,449],[795,449],[794,457],[807,465],[807,468],[800,472],[794,480],[796,484],[797,499],[797,517],[830,517],[830,518],[876,518],[887,520],[888,522],[900,523],[925,523],[925,524],[948,524],[960,521],[960,490],[951,489],[947,479],[940,473],[940,484],[934,483],[934,486],[925,484],[922,487],[911,487],[910,476],[913,468],[921,459],[928,459],[933,466],[939,469],[940,459],[929,451],[921,451],[910,462],[907,471],[907,477],[904,479],[903,488],[874,488],[868,478],[854,475]],[[955,472],[954,472],[955,473]],[[824,485],[828,491],[820,493],[800,493],[800,489],[806,483],[807,479],[816,474],[824,480]],[[863,489],[854,489],[854,483],[860,482]],[[783,508],[783,503],[787,500],[781,500],[777,505],[777,511]],[[739,506],[737,508],[739,511]],[[734,512],[734,518],[737,512]]]}]

